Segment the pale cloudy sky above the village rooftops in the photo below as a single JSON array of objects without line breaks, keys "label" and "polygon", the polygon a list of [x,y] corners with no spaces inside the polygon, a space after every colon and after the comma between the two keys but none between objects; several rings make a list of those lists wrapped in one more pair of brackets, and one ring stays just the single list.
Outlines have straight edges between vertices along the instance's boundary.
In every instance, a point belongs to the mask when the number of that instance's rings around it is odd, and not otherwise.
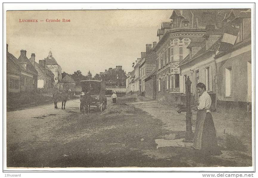
[{"label": "pale cloudy sky above the village rooftops", "polygon": [[28,58],[35,53],[38,62],[51,50],[62,71],[69,74],[80,70],[86,75],[90,70],[94,76],[116,66],[130,72],[146,44],[158,42],[157,29],[162,22],[170,22],[171,14],[171,9],[7,11],[8,52],[18,58],[24,49]]}]

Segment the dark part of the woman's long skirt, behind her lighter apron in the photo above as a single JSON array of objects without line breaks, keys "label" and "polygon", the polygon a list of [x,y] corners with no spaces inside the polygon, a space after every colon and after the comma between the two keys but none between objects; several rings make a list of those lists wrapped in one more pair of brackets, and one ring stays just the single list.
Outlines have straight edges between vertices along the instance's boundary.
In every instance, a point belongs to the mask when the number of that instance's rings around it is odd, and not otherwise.
[{"label": "dark part of the woman's long skirt, behind her lighter apron", "polygon": [[203,124],[202,144],[200,153],[204,155],[222,154],[218,148],[215,126],[210,112],[206,113],[206,117]]}]

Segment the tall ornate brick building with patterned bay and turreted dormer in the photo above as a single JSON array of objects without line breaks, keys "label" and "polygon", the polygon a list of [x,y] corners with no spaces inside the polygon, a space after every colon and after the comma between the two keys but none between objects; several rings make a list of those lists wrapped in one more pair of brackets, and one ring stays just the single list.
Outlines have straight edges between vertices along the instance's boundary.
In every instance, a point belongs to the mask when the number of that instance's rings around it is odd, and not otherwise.
[{"label": "tall ornate brick building with patterned bay and turreted dormer", "polygon": [[[181,98],[184,100],[181,93],[185,93],[185,76],[181,74],[179,63],[184,58],[190,57],[190,50],[192,55],[195,55],[203,48],[202,45],[206,40],[203,38],[206,34],[206,26],[221,28],[226,13],[230,12],[231,9],[175,9],[170,17],[171,22],[161,24],[161,28],[157,31],[159,42],[153,48],[157,61],[156,99],[158,101],[179,104]],[[218,39],[216,33],[208,36],[211,42],[217,41],[213,38]]]}]

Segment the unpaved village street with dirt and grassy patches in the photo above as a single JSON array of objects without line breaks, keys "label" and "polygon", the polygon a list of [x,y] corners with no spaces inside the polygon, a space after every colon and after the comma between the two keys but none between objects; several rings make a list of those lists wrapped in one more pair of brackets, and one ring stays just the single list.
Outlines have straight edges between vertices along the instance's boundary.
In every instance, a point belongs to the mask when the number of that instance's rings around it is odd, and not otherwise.
[{"label": "unpaved village street with dirt and grassy patches", "polygon": [[[225,149],[219,141],[222,155],[200,157],[188,147],[157,149],[156,139],[184,138],[185,114],[178,114],[175,107],[140,100],[121,97],[113,106],[108,98],[104,112],[94,110],[88,115],[80,114],[79,100],[67,101],[66,110],[60,109],[59,102],[59,109],[51,104],[7,112],[7,167],[252,165],[248,136],[251,119],[241,120],[247,129],[234,127],[237,133],[247,135],[245,150]],[[218,125],[218,114],[214,114],[214,120],[220,138],[224,128]],[[240,121],[237,124],[242,125]]]}]

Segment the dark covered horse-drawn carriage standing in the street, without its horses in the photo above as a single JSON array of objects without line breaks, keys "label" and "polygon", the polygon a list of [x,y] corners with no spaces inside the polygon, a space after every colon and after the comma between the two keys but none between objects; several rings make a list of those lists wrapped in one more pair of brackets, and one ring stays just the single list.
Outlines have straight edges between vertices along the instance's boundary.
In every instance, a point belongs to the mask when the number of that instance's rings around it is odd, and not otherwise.
[{"label": "dark covered horse-drawn carriage standing in the street, without its horses", "polygon": [[107,97],[105,96],[105,82],[100,80],[82,80],[80,83],[82,91],[88,96],[88,99],[85,100],[90,100],[83,104],[83,107],[86,107],[85,109],[87,112],[90,111],[90,108],[97,108],[100,109],[100,111],[106,109]]}]

